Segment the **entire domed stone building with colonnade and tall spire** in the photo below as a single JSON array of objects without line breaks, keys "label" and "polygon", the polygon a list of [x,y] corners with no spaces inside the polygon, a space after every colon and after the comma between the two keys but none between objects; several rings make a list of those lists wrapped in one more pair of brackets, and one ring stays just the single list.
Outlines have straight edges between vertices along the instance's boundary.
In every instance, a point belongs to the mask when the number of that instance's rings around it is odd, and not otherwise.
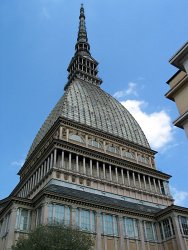
[{"label": "entire domed stone building with colonnade and tall spire", "polygon": [[0,201],[0,249],[53,222],[92,233],[96,250],[188,249],[188,209],[173,205],[134,117],[101,89],[83,6],[79,19],[65,92]]}]

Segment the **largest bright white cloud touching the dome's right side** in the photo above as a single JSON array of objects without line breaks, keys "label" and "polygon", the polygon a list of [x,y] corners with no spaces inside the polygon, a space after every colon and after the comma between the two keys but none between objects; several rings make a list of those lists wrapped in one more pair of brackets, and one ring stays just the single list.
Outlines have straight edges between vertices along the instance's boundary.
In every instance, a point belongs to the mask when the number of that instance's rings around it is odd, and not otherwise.
[{"label": "largest bright white cloud touching the dome's right side", "polygon": [[147,103],[139,100],[126,100],[122,101],[121,104],[137,120],[153,149],[164,148],[172,141],[171,119],[164,110],[146,113],[143,108],[147,106]]}]

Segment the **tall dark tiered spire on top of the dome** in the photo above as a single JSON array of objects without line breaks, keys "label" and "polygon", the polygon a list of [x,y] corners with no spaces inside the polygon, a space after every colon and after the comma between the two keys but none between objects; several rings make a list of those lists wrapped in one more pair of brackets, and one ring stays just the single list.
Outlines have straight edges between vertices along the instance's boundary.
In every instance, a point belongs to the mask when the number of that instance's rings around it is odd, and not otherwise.
[{"label": "tall dark tiered spire on top of the dome", "polygon": [[80,8],[79,20],[78,37],[75,45],[76,51],[67,69],[69,75],[65,90],[75,79],[81,79],[97,86],[102,83],[102,80],[97,75],[98,62],[90,54],[83,4]]}]

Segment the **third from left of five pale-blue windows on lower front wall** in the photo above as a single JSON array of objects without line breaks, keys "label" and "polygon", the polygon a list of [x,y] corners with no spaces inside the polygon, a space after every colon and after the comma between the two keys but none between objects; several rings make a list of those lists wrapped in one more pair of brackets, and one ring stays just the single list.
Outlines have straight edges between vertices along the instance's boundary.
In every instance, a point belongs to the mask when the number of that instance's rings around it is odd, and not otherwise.
[{"label": "third from left of five pale-blue windows on lower front wall", "polygon": [[102,233],[107,235],[118,235],[117,217],[110,214],[101,215]]}]

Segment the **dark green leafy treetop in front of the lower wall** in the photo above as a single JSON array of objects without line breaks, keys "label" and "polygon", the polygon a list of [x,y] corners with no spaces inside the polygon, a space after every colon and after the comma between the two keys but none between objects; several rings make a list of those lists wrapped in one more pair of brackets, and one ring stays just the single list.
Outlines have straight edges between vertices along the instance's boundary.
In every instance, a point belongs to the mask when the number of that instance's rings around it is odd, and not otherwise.
[{"label": "dark green leafy treetop in front of the lower wall", "polygon": [[94,245],[90,233],[65,225],[44,225],[20,239],[12,250],[90,250]]}]

